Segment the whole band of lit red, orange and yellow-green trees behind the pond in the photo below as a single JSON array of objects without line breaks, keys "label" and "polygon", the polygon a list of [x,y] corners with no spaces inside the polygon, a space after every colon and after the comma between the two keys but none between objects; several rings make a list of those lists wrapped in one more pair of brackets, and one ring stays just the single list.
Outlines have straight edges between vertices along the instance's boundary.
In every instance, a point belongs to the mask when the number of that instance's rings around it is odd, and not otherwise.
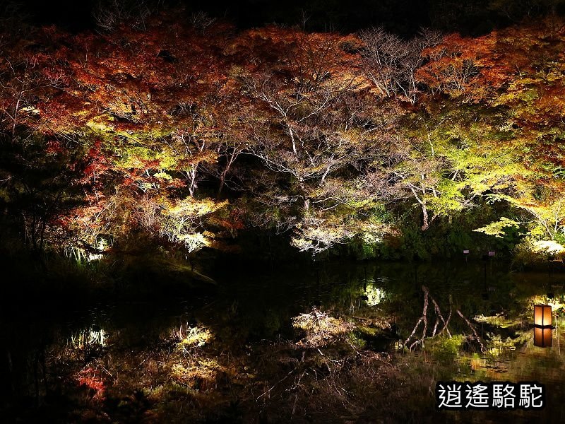
[{"label": "whole band of lit red, orange and yellow-green trees behind the pond", "polygon": [[189,256],[242,232],[314,255],[562,250],[557,12],[472,38],[136,11],[78,32],[2,21],[0,202],[32,251]]}]

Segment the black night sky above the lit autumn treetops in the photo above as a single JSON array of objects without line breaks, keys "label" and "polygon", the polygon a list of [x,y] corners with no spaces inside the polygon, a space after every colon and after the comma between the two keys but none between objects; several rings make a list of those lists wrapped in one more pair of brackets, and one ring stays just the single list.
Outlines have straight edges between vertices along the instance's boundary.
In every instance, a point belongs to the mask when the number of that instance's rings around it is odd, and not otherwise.
[{"label": "black night sky above the lit autumn treetops", "polygon": [[[111,2],[112,0],[104,0]],[[117,0],[122,1],[122,0]],[[539,0],[537,4],[542,4]],[[556,0],[552,0],[556,1]],[[559,2],[560,0],[557,0]],[[563,0],[565,3],[565,0]],[[240,28],[266,23],[295,25],[302,11],[310,17],[309,30],[339,30],[354,32],[371,25],[383,25],[387,30],[403,35],[415,33],[422,26],[444,31],[460,31],[464,35],[480,35],[493,28],[512,23],[504,14],[493,11],[493,0],[145,0],[147,4],[174,6],[184,4],[188,11],[206,11],[211,16],[225,17]],[[510,4],[518,18],[544,13],[522,8],[521,0],[500,0]],[[6,4],[1,1],[0,4]],[[55,23],[68,30],[93,28],[92,10],[98,0],[23,1],[23,9],[32,22]],[[133,1],[129,1],[133,3]],[[535,4],[526,1],[525,4]]]}]

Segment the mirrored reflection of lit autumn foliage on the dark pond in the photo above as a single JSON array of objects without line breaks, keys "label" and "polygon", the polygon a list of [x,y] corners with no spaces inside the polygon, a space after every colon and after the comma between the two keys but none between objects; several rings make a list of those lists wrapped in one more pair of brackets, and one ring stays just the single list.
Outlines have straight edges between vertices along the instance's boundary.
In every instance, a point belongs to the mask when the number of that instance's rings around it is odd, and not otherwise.
[{"label": "mirrored reflection of lit autumn foliage on the dark pond", "polygon": [[[64,399],[71,399],[71,406],[84,412],[83,420],[87,414],[100,411],[98,399],[102,399],[102,391],[99,389],[103,389],[103,411],[115,422],[132,420],[132,416],[138,421],[155,422],[187,419],[198,422],[218,416],[228,417],[227,422],[238,419],[247,422],[260,411],[285,421],[293,420],[297,413],[315,413],[328,422],[335,416],[363,416],[373,420],[386,413],[395,421],[398,418],[410,422],[414,411],[429,412],[436,418],[434,394],[429,387],[433,388],[438,380],[562,381],[564,361],[557,343],[552,350],[540,352],[532,346],[528,327],[530,305],[547,301],[542,295],[544,291],[540,291],[540,281],[545,281],[545,276],[541,279],[527,273],[500,276],[497,291],[490,300],[481,300],[474,283],[460,283],[462,278],[475,273],[472,264],[459,268],[460,273],[450,273],[449,280],[455,283],[448,287],[446,270],[451,268],[420,264],[419,278],[429,281],[429,288],[442,307],[451,288],[456,287],[453,307],[475,317],[478,331],[484,327],[482,340],[487,349],[485,353],[473,353],[465,336],[469,327],[454,310],[450,324],[452,338],[444,332],[444,336],[426,338],[422,351],[399,353],[389,348],[396,336],[386,327],[394,320],[400,331],[411,330],[415,315],[422,311],[421,296],[412,296],[414,269],[405,263],[363,264],[353,269],[338,265],[333,272],[323,269],[323,276],[344,281],[331,285],[334,290],[331,295],[329,290],[323,290],[323,304],[327,307],[326,302],[334,302],[332,312],[326,309],[317,311],[318,314],[313,311],[297,315],[299,306],[296,306],[290,314],[287,310],[281,313],[275,305],[287,307],[287,299],[277,299],[272,292],[266,295],[268,310],[247,307],[257,302],[254,298],[249,303],[239,300],[237,314],[222,315],[220,311],[233,302],[232,298],[222,299],[222,307],[211,314],[209,309],[203,315],[196,312],[197,317],[189,320],[191,324],[184,324],[188,319],[183,320],[181,327],[174,324],[179,319],[176,312],[163,325],[154,314],[131,317],[127,310],[131,324],[124,326],[120,321],[119,331],[105,328],[104,340],[107,333],[112,334],[112,343],[105,341],[105,348],[95,358],[86,358],[85,362],[85,358],[77,357],[65,347],[65,338],[46,349],[49,375],[53,376],[47,379],[49,389],[55,392],[56,387]],[[365,270],[368,285],[381,285],[386,290],[378,308],[359,302],[364,295]],[[516,279],[521,278],[528,281],[516,284]],[[264,281],[263,276],[257,281]],[[309,283],[309,287],[316,284]],[[292,280],[290,284],[295,287],[296,282]],[[513,295],[509,295],[510,290]],[[563,294],[554,294],[552,301],[557,307],[564,301]],[[359,305],[355,313],[349,312],[352,300]],[[456,302],[462,304],[456,306]],[[429,298],[429,306],[432,305]],[[501,308],[504,313],[500,312]],[[499,312],[492,313],[492,309]],[[254,319],[239,319],[245,315]],[[268,321],[270,330],[277,321],[283,325],[289,323],[292,316],[297,318],[294,323],[299,333],[293,340],[273,333],[268,333],[266,340],[263,334],[256,337],[249,331],[258,321]],[[207,317],[206,324],[201,324],[203,317]],[[195,319],[198,324],[194,324]],[[428,319],[428,334],[431,334],[434,324],[431,309]],[[562,331],[562,320],[556,325]],[[88,340],[89,331],[90,327],[83,331],[83,340]],[[306,337],[300,338],[303,332]],[[214,340],[210,343],[212,335]],[[186,351],[179,346],[183,341]],[[379,345],[381,341],[383,344]],[[61,375],[71,379],[57,378]],[[32,376],[29,386],[33,386]],[[250,393],[254,401],[237,404],[237,399]],[[412,409],[398,408],[400,402]],[[105,420],[107,417],[100,418]]]}]

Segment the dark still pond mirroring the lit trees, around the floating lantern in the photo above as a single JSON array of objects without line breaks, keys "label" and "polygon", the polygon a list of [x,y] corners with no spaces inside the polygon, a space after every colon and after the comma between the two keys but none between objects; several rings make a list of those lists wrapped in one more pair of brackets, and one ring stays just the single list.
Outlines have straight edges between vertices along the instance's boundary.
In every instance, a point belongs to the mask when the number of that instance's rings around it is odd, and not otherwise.
[{"label": "dark still pond mirroring the lit trees, around the floating lantern", "polygon": [[[1,323],[2,416],[49,423],[565,420],[565,275],[496,261],[208,270],[213,293]],[[552,346],[533,305],[552,305]],[[425,312],[425,314],[424,314]],[[564,352],[561,352],[561,346]],[[436,408],[438,382],[537,382],[545,407]]]}]

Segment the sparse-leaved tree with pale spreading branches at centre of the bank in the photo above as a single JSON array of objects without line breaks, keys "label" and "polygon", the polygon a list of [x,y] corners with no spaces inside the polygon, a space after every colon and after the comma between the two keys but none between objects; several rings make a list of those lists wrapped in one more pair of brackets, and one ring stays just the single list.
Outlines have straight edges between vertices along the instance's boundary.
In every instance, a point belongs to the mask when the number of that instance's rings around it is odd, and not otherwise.
[{"label": "sparse-leaved tree with pale spreading branches at centre of the bank", "polygon": [[254,194],[284,211],[279,230],[292,230],[295,246],[321,252],[358,234],[355,216],[374,206],[346,172],[355,175],[352,165],[371,156],[383,130],[363,110],[369,84],[359,57],[344,51],[346,37],[278,28],[249,36],[261,37],[258,48],[266,38],[282,58],[241,78],[256,105],[248,149],[273,172]]}]

